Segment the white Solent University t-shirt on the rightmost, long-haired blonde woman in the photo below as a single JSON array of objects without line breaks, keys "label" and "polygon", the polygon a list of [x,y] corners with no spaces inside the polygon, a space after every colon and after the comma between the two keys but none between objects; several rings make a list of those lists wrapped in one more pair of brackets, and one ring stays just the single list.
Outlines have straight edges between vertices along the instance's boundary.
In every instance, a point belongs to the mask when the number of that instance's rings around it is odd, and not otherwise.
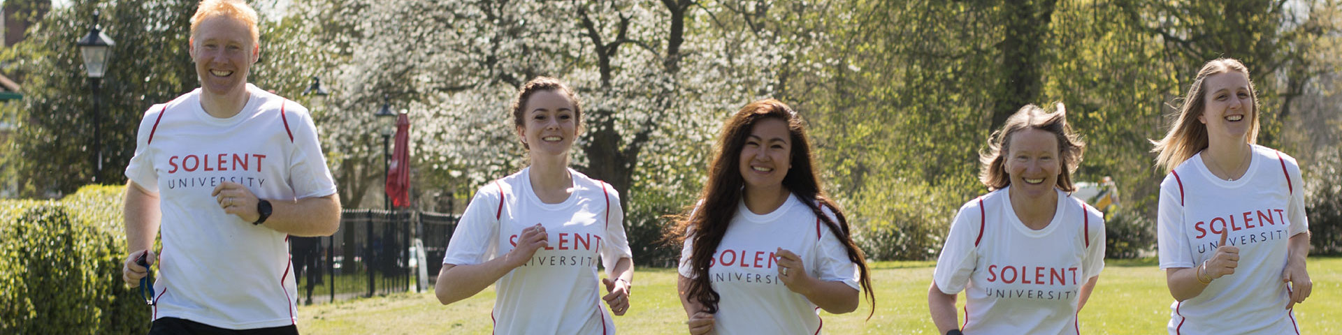
[{"label": "white Solent University t-shirt on the rightmost, long-haired blonde woman", "polygon": [[1282,281],[1291,236],[1308,230],[1304,181],[1295,158],[1252,146],[1249,169],[1236,181],[1213,176],[1198,153],[1161,182],[1161,268],[1193,268],[1216,253],[1221,232],[1240,249],[1235,275],[1170,304],[1170,334],[1296,334]]}]

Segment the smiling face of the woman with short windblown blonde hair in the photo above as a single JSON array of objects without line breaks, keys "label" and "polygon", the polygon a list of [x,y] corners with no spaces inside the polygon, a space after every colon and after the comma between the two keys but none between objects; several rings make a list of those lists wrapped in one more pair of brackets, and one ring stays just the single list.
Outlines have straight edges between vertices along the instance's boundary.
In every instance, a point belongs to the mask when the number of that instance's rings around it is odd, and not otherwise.
[{"label": "smiling face of the woman with short windblown blonde hair", "polygon": [[1029,198],[1052,193],[1062,173],[1057,137],[1039,129],[1024,129],[1008,141],[1011,145],[1004,163],[1012,190]]}]

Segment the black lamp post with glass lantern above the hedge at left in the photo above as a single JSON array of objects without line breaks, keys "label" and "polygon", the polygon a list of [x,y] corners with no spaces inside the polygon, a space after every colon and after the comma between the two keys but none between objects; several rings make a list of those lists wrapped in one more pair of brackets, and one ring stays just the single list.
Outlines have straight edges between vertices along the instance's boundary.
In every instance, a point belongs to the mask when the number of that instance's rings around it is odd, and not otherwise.
[{"label": "black lamp post with glass lantern above the hedge at left", "polygon": [[75,42],[79,47],[79,55],[85,62],[85,74],[89,75],[89,80],[93,82],[93,182],[98,182],[98,174],[102,173],[102,138],[99,134],[99,127],[102,126],[102,111],[99,105],[102,103],[99,88],[102,84],[102,75],[107,71],[107,58],[111,56],[111,47],[117,46],[111,38],[102,34],[98,28],[98,11],[93,11],[93,27],[89,28],[89,34],[82,39]]}]

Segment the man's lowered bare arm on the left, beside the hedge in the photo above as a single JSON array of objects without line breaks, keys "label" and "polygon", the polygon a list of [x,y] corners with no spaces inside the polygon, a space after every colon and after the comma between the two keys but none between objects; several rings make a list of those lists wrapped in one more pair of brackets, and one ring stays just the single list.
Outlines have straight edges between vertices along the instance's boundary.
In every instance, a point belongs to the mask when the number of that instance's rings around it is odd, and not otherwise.
[{"label": "man's lowered bare arm on the left, beside the hedge", "polygon": [[136,259],[148,251],[150,252],[148,261],[153,264],[156,260],[149,249],[154,245],[154,236],[158,236],[158,224],[162,220],[158,193],[145,190],[134,181],[127,182],[122,198],[122,216],[126,229],[126,260],[121,268],[121,279],[130,287],[138,287],[138,280],[148,272],[145,267],[136,264]]}]

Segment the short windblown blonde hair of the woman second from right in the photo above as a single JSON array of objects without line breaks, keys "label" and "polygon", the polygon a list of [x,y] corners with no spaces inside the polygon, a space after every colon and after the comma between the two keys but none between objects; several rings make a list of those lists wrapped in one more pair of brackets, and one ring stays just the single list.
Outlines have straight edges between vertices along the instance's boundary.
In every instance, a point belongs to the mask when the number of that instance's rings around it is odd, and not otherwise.
[{"label": "short windblown blonde hair of the woman second from right", "polygon": [[1082,154],[1086,143],[1080,135],[1072,133],[1067,125],[1067,109],[1062,102],[1056,103],[1056,110],[1049,113],[1035,105],[1020,107],[1016,114],[1007,118],[1001,130],[993,131],[988,138],[988,149],[978,153],[981,163],[978,181],[989,190],[1002,189],[1011,185],[1011,176],[1007,173],[1007,154],[1011,153],[1012,135],[1027,129],[1048,131],[1057,137],[1057,155],[1062,159],[1063,170],[1057,174],[1057,189],[1063,192],[1076,190],[1072,186],[1072,172],[1082,163]]}]

